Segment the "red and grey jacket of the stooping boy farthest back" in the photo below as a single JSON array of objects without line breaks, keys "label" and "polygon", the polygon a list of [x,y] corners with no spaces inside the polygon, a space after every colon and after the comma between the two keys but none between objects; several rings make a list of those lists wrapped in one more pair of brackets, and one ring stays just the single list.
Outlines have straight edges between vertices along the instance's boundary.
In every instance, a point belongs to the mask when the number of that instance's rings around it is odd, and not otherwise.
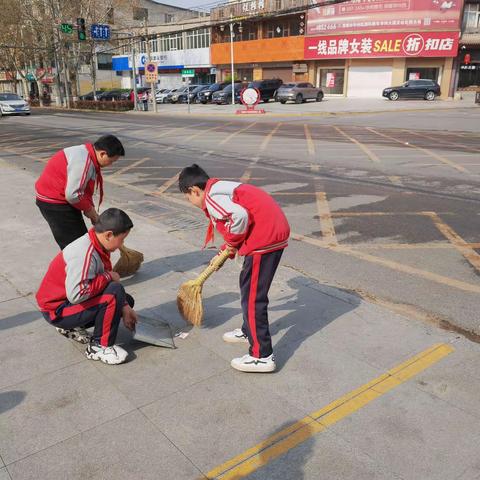
[{"label": "red and grey jacket of the stooping boy farthest back", "polygon": [[102,203],[102,172],[93,145],[87,143],[65,148],[53,155],[35,183],[35,191],[41,202],[70,204],[86,211],[94,206],[95,185]]}]

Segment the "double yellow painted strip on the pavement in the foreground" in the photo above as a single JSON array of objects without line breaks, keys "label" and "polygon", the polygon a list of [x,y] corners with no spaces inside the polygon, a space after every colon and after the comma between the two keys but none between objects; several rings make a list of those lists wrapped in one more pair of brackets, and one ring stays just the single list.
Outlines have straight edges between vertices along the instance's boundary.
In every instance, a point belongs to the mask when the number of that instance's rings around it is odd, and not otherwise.
[{"label": "double yellow painted strip on the pavement in the foreground", "polygon": [[317,433],[349,417],[373,400],[410,380],[453,351],[454,348],[451,345],[444,343],[433,345],[360,388],[307,415],[298,422],[268,437],[263,442],[210,470],[205,477],[210,480],[239,480],[245,478]]}]

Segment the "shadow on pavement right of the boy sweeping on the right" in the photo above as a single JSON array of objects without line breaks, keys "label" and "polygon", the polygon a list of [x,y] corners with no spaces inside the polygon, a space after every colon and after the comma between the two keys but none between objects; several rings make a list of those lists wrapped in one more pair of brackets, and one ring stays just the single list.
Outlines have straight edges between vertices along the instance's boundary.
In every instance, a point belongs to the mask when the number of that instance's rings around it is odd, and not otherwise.
[{"label": "shadow on pavement right of the boy sweeping on the right", "polygon": [[[270,323],[272,336],[285,332],[273,346],[277,370],[283,367],[306,339],[360,305],[360,298],[351,292],[322,286],[305,277],[292,278],[287,285],[297,289],[296,294],[285,297],[285,303],[269,309],[271,312],[289,310],[286,315]],[[275,303],[281,301],[279,299]]]}]

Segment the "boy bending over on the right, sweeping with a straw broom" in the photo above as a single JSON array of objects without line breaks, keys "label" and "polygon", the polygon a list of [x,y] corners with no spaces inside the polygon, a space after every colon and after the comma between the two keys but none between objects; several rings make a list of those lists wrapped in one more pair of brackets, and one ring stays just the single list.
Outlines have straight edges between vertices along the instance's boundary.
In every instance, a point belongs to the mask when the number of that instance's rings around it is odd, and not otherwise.
[{"label": "boy bending over on the right, sweeping with a straw broom", "polygon": [[213,228],[223,236],[232,257],[245,256],[240,273],[243,310],[242,328],[223,335],[229,343],[249,343],[248,355],[234,358],[231,366],[242,372],[273,372],[276,368],[268,326],[268,291],[290,227],[275,200],[249,184],[210,178],[198,165],[182,170],[179,188],[190,203],[210,219],[205,245],[213,239]]}]

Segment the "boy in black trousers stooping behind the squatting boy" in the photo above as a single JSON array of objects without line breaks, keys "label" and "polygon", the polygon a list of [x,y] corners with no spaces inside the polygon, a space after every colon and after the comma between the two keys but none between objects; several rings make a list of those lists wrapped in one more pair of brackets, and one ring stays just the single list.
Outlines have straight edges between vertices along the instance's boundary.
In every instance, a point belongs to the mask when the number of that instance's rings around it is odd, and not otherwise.
[{"label": "boy in black trousers stooping behind the squatting boy", "polygon": [[104,135],[93,145],[77,145],[57,152],[35,183],[37,206],[61,250],[87,233],[82,213],[94,224],[95,187],[103,200],[101,169],[112,165],[125,150],[114,135]]}]

